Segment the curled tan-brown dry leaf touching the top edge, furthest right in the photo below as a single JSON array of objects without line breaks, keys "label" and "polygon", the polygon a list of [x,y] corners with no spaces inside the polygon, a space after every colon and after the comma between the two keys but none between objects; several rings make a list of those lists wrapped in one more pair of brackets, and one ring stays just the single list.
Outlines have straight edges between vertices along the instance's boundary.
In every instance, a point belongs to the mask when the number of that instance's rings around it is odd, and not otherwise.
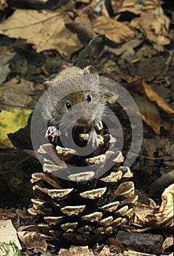
[{"label": "curled tan-brown dry leaf touching the top edge, furthest right", "polygon": [[[112,0],[111,7],[114,14],[133,12],[135,15],[140,15],[131,21],[130,26],[139,29],[157,50],[163,50],[163,45],[170,43],[167,37],[170,20],[162,10],[161,1]],[[117,16],[119,18],[120,15]]]}]

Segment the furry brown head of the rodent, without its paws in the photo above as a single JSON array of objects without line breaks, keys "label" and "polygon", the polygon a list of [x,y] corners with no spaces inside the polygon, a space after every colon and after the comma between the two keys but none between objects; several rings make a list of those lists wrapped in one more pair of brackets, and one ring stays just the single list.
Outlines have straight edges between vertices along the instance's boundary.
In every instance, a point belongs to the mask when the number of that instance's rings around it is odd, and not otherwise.
[{"label": "furry brown head of the rodent, without its paws", "polygon": [[[50,122],[56,127],[59,127],[61,120],[67,127],[95,127],[101,120],[104,111],[103,94],[98,75],[90,75],[90,69],[75,67],[75,71],[79,72],[76,76],[73,75],[74,67],[65,69],[52,82],[52,104],[48,113]],[[69,72],[71,78],[65,79],[66,74],[69,77]]]}]

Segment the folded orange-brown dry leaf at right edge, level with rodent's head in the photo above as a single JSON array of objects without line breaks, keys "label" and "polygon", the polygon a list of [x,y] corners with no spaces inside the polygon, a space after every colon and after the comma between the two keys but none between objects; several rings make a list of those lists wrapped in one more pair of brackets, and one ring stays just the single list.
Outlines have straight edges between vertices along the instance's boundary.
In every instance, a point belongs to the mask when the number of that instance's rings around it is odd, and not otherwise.
[{"label": "folded orange-brown dry leaf at right edge, level with rodent's head", "polygon": [[127,83],[124,87],[133,94],[133,98],[138,105],[143,121],[145,121],[157,135],[160,134],[161,127],[165,127],[167,130],[171,129],[168,114],[174,114],[174,110],[146,84],[145,80]]}]

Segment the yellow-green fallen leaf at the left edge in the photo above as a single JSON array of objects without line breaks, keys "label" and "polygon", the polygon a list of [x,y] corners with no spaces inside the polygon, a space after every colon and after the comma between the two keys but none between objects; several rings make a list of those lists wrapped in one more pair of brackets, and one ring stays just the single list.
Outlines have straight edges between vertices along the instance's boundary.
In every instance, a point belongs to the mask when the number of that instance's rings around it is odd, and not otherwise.
[{"label": "yellow-green fallen leaf at the left edge", "polygon": [[0,113],[0,147],[1,148],[14,148],[13,144],[8,138],[8,133],[17,132],[20,128],[27,125],[28,117],[32,110],[26,110],[22,112],[21,110],[6,111],[1,110]]}]

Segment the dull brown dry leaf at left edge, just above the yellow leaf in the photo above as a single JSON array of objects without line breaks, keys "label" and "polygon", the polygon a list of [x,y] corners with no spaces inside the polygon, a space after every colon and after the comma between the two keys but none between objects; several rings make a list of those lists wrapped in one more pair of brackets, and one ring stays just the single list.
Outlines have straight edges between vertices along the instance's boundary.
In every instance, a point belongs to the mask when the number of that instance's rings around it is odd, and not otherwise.
[{"label": "dull brown dry leaf at left edge, just above the yellow leaf", "polygon": [[12,78],[12,80],[1,85],[0,108],[3,110],[34,108],[43,92],[44,88],[41,85],[36,87],[31,81]]}]

